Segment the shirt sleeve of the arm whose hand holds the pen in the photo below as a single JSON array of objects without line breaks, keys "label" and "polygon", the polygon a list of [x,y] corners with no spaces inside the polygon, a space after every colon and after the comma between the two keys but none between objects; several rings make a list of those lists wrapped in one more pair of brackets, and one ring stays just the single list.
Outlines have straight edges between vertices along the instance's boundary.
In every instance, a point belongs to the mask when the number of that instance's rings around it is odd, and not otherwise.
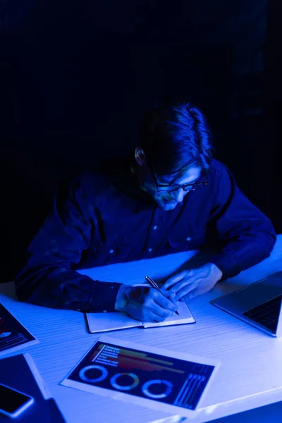
[{"label": "shirt sleeve of the arm whose hand holds the pen", "polygon": [[73,267],[90,247],[94,207],[85,180],[75,178],[54,198],[51,214],[27,250],[27,263],[16,277],[22,301],[82,312],[114,311],[121,283],[93,281]]}]

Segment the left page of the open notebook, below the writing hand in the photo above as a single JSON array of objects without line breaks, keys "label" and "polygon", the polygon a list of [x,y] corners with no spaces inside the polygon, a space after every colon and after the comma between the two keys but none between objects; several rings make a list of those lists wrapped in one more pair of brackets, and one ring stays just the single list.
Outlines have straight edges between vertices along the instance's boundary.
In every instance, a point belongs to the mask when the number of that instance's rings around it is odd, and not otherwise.
[{"label": "left page of the open notebook, below the writing hand", "polygon": [[117,331],[141,326],[142,322],[121,312],[86,313],[90,333]]}]

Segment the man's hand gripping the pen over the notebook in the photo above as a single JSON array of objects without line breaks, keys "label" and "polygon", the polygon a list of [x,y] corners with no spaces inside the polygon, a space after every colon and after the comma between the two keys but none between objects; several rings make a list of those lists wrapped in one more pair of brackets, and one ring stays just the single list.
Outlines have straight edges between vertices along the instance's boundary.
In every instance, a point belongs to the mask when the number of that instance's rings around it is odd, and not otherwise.
[{"label": "man's hand gripping the pen over the notebook", "polygon": [[122,285],[116,295],[115,309],[126,312],[140,321],[164,321],[177,310],[175,294],[169,291],[161,295],[154,288],[141,288]]}]

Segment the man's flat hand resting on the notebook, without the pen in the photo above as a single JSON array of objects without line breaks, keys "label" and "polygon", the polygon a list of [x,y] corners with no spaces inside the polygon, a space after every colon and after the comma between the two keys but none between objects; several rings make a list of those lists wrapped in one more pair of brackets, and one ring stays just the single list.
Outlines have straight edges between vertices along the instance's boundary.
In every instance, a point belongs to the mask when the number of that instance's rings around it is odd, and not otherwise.
[{"label": "man's flat hand resting on the notebook, without the pen", "polygon": [[198,269],[186,270],[169,278],[161,287],[176,294],[176,301],[187,301],[207,293],[222,277],[222,271],[213,263],[204,264]]}]

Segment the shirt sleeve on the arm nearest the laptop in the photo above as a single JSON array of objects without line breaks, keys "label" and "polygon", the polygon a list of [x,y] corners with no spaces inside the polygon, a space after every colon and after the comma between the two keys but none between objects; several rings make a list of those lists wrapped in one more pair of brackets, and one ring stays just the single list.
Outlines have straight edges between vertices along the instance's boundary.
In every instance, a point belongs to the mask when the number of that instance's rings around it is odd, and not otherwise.
[{"label": "shirt sleeve on the arm nearest the laptop", "polygon": [[230,278],[269,257],[276,242],[271,221],[238,188],[226,166],[220,164],[214,180],[214,202],[207,239],[219,240],[219,252],[210,262]]}]

